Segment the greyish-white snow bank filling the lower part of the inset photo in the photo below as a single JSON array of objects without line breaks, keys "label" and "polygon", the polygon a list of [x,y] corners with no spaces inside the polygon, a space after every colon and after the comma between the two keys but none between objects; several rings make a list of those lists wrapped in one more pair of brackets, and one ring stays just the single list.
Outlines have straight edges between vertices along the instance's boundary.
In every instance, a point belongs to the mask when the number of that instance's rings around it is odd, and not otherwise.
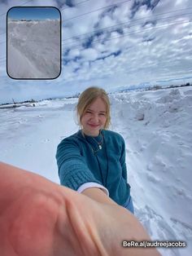
[{"label": "greyish-white snow bank filling the lower part of the inset photo", "polygon": [[13,78],[55,78],[60,72],[60,21],[8,21],[7,71]]}]

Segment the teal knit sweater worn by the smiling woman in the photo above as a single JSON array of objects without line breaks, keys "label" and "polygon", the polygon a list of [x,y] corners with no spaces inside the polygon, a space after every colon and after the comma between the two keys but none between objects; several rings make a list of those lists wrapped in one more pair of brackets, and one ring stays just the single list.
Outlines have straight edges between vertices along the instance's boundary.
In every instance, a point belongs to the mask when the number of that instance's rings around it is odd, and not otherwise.
[{"label": "teal knit sweater worn by the smiling woman", "polygon": [[[103,141],[101,150],[98,141]],[[130,186],[127,183],[125,145],[118,133],[102,130],[98,137],[91,137],[79,130],[59,143],[56,160],[63,186],[77,190],[84,183],[99,183],[107,188],[117,204],[124,205],[127,201]]]}]

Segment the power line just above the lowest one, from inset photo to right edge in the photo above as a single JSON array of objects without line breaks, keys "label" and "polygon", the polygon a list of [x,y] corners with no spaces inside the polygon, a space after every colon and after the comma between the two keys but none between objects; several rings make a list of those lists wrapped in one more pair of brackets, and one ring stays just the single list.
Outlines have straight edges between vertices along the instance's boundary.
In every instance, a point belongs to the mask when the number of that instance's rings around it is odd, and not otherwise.
[{"label": "power line just above the lowest one, from inset photo to right edge", "polygon": [[[187,9],[185,8],[185,9],[177,10],[177,11],[186,11],[186,10],[188,10],[188,9],[192,9],[192,7],[189,7],[189,8],[187,8]],[[177,12],[177,11],[168,11],[168,12],[164,12],[164,13],[159,13],[158,15],[166,15],[166,14],[169,14],[169,13],[172,13],[172,12]],[[158,15],[155,15],[155,16],[158,16]],[[173,17],[174,17],[174,16],[173,16]],[[143,20],[143,19],[146,19],[146,18],[151,18],[151,16],[144,16],[144,17],[139,18],[139,19],[137,19],[137,20]],[[163,19],[163,18],[162,18],[162,19]],[[133,20],[133,22],[135,22],[135,21],[137,21],[137,20]],[[126,21],[126,22],[123,22],[123,23],[120,23],[120,24],[116,24],[116,25],[113,25],[113,26],[107,26],[107,27],[105,27],[105,28],[103,28],[103,29],[96,29],[96,30],[93,30],[93,31],[90,31],[90,32],[87,32],[87,33],[77,34],[77,35],[75,35],[75,36],[72,36],[71,38],[65,38],[65,39],[63,39],[62,42],[63,42],[63,41],[67,41],[67,40],[69,40],[69,39],[73,39],[73,38],[79,38],[79,37],[84,36],[84,35],[87,35],[87,34],[89,34],[89,33],[101,32],[101,31],[103,31],[103,30],[105,30],[105,29],[109,29],[109,28],[113,28],[113,27],[120,26],[120,25],[123,25],[123,24],[127,24],[127,23],[129,23],[129,22],[130,22],[130,21]]]}]

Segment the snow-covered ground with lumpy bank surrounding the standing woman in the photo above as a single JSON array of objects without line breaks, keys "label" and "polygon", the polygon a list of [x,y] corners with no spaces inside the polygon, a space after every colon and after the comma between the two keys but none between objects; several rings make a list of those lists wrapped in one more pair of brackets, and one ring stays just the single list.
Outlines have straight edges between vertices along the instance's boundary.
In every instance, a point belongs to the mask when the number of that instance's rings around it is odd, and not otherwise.
[{"label": "snow-covered ground with lumpy bank surrounding the standing woman", "polygon": [[[111,130],[124,136],[136,216],[152,240],[185,241],[192,251],[192,88],[115,93]],[[42,101],[36,107],[0,109],[1,161],[59,183],[55,161],[61,139],[75,133],[77,99]]]}]

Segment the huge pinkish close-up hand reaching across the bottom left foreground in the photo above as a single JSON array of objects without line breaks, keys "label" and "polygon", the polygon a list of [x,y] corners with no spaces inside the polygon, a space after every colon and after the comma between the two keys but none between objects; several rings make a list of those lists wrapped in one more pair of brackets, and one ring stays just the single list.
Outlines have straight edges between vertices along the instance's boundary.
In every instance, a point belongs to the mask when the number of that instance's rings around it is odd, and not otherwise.
[{"label": "huge pinkish close-up hand reaching across the bottom left foreground", "polygon": [[159,255],[123,248],[149,241],[128,210],[78,194],[50,180],[0,162],[1,256]]}]

